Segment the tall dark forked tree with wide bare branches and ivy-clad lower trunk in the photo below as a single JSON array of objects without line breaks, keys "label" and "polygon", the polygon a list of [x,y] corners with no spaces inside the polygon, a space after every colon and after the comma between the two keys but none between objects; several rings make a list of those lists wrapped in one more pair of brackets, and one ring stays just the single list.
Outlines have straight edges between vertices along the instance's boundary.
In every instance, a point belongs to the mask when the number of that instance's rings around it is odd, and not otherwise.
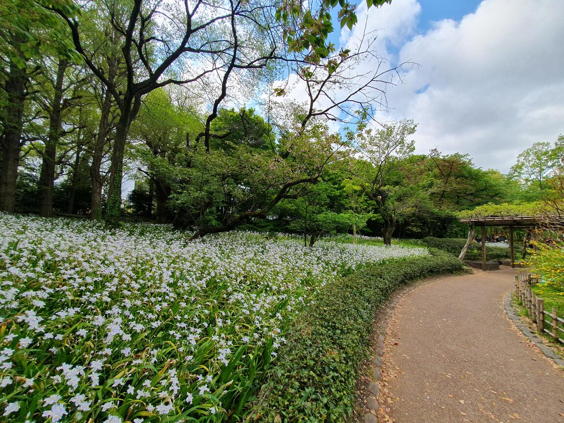
[{"label": "tall dark forked tree with wide bare branches and ivy-clad lower trunk", "polygon": [[[65,5],[67,7],[63,7]],[[143,96],[171,83],[196,83],[208,74],[222,74],[221,89],[202,135],[206,149],[209,149],[211,121],[217,116],[219,104],[227,94],[227,81],[232,73],[263,68],[275,58],[276,44],[268,30],[277,25],[272,19],[268,20],[268,14],[261,14],[267,6],[260,1],[230,0],[214,6],[202,2],[192,6],[186,2],[182,8],[173,7],[172,11],[168,5],[158,1],[147,5],[142,0],[134,0],[130,7],[125,2],[88,3],[85,7],[103,12],[120,38],[126,68],[125,84],[121,87],[109,80],[96,64],[97,51],[89,49],[84,42],[87,36],[81,25],[80,10],[68,6],[68,2],[61,2],[49,8],[67,22],[76,50],[91,72],[111,92],[120,110],[112,151],[107,209],[107,224],[116,226],[120,213],[125,144]],[[221,10],[219,15],[211,13],[217,10]],[[165,24],[157,22],[157,16]],[[261,32],[267,37],[262,49],[255,41],[256,37],[262,38]],[[209,67],[196,69],[196,64],[206,63],[203,56],[213,60],[208,61]],[[173,65],[179,66],[179,69]]]}]

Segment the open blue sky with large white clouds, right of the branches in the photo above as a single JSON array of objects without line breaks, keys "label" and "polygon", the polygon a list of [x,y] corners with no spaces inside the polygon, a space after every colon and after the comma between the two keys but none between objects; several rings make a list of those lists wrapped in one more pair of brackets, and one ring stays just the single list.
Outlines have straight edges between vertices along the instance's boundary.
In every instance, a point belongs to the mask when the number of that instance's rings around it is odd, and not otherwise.
[{"label": "open blue sky with large white clouds, right of the branches", "polygon": [[338,47],[377,30],[387,63],[417,63],[377,116],[415,120],[417,153],[468,153],[507,173],[520,152],[564,133],[563,0],[393,0],[369,10],[363,1],[357,15],[352,33],[333,34]]}]

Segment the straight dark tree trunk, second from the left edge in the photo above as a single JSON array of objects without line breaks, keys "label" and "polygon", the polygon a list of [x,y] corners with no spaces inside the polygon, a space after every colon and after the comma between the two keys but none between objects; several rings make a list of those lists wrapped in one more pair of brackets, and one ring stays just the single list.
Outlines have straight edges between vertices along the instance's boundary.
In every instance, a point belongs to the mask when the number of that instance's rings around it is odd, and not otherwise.
[{"label": "straight dark tree trunk, second from the left edge", "polygon": [[61,136],[61,103],[63,102],[63,81],[68,61],[60,59],[57,65],[57,75],[54,95],[49,111],[49,134],[45,141],[43,162],[41,164],[41,215],[51,217],[53,214],[53,188],[55,183],[55,161],[57,159],[57,144]]}]

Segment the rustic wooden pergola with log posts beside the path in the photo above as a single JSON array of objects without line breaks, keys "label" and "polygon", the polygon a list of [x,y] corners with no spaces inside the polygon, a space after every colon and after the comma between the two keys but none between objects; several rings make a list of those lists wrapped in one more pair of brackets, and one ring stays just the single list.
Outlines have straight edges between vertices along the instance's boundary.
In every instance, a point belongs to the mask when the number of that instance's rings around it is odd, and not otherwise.
[{"label": "rustic wooden pergola with log posts beside the path", "polygon": [[[548,218],[550,220],[550,218]],[[560,221],[560,219],[558,219]],[[509,254],[511,257],[511,267],[515,267],[515,252],[513,243],[513,230],[526,229],[531,230],[541,226],[541,223],[547,222],[547,216],[493,216],[493,217],[476,217],[470,219],[460,219],[460,222],[470,225],[468,231],[468,240],[460,253],[459,258],[464,257],[468,246],[474,238],[474,229],[477,226],[482,228],[482,270],[486,270],[486,226],[496,226],[509,229]]]}]

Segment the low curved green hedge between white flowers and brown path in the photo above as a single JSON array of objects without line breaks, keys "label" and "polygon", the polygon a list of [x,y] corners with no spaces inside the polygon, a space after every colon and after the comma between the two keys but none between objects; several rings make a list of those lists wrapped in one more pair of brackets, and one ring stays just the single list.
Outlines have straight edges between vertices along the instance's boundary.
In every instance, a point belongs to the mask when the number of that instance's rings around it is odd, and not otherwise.
[{"label": "low curved green hedge between white flowers and brown path", "polygon": [[376,311],[399,285],[462,267],[451,254],[432,249],[431,255],[367,266],[325,285],[278,351],[255,417],[280,423],[345,421],[354,408]]}]

